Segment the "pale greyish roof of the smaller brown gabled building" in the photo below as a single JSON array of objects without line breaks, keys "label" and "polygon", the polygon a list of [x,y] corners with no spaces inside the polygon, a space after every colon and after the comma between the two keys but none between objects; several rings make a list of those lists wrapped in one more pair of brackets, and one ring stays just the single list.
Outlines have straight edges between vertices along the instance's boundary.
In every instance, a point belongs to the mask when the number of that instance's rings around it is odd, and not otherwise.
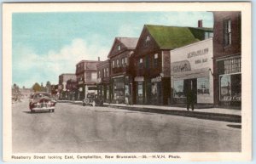
[{"label": "pale greyish roof of the smaller brown gabled building", "polygon": [[108,53],[108,58],[112,56],[113,48],[116,45],[116,42],[120,42],[123,46],[125,46],[125,49],[135,49],[137,46],[137,37],[115,37],[113,41],[113,45]]}]

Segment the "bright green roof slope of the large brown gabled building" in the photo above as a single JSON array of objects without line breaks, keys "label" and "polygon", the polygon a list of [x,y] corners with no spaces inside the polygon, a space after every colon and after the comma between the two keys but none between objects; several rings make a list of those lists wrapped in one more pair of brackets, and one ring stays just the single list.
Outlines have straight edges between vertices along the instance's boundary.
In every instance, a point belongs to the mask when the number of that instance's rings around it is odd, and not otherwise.
[{"label": "bright green roof slope of the large brown gabled building", "polygon": [[180,48],[203,40],[205,31],[210,28],[180,27],[166,25],[145,25],[151,37],[160,48]]}]

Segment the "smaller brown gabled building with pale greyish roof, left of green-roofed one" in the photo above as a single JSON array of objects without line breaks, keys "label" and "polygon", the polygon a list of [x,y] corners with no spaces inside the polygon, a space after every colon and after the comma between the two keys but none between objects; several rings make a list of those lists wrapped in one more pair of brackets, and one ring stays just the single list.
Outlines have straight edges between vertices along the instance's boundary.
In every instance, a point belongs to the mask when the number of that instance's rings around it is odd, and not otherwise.
[{"label": "smaller brown gabled building with pale greyish roof, left of green-roofed one", "polygon": [[125,103],[125,97],[131,97],[132,76],[130,57],[137,45],[135,37],[116,37],[108,54],[110,61],[111,102]]}]

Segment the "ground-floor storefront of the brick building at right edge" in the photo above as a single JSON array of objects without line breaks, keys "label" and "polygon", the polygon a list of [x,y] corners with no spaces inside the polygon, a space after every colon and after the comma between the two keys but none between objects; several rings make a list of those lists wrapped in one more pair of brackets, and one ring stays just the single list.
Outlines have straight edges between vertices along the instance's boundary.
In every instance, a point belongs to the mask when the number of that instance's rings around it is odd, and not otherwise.
[{"label": "ground-floor storefront of the brick building at right edge", "polygon": [[218,59],[219,102],[241,105],[241,55]]}]

